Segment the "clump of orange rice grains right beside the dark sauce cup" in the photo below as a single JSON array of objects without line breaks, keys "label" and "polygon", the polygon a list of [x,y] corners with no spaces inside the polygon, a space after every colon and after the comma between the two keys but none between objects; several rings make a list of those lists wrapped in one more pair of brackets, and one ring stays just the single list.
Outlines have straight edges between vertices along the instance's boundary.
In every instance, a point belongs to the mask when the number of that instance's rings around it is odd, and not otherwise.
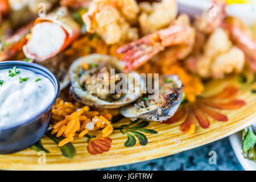
[{"label": "clump of orange rice grains right beside the dark sauce cup", "polygon": [[77,102],[64,102],[57,98],[52,107],[51,122],[55,123],[52,135],[56,137],[64,136],[59,147],[73,141],[73,137],[84,137],[89,131],[102,129],[102,137],[108,137],[113,132],[113,126],[109,119],[112,114],[106,109],[99,111],[90,110],[89,106],[80,106]]}]

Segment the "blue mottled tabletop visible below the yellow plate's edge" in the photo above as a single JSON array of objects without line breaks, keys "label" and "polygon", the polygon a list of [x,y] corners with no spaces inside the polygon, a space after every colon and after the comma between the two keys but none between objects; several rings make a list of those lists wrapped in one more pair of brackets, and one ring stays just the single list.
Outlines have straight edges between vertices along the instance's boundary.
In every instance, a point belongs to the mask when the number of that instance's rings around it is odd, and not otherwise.
[{"label": "blue mottled tabletop visible below the yellow plate's edge", "polygon": [[[216,163],[209,164],[210,151],[216,152]],[[129,164],[105,168],[100,170],[243,170],[238,162],[229,139],[221,139],[216,142],[180,152],[179,154],[167,156],[147,162]]]}]

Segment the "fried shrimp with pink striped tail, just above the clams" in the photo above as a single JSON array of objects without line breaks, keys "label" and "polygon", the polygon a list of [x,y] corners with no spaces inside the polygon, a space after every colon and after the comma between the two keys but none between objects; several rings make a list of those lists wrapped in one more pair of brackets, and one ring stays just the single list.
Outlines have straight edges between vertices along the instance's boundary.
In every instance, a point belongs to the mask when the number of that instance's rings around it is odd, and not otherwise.
[{"label": "fried shrimp with pink striped tail, just above the clams", "polygon": [[172,55],[184,59],[193,48],[195,29],[190,26],[187,15],[180,15],[168,28],[163,28],[143,38],[121,46],[117,53],[124,53],[125,71],[136,69],[153,56],[170,47]]}]

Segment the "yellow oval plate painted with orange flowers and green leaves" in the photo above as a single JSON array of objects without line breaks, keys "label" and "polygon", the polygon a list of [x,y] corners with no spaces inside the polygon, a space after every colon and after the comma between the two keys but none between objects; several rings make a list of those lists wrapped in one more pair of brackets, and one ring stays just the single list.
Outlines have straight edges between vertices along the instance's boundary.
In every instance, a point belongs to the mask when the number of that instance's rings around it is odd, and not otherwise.
[{"label": "yellow oval plate painted with orange flowers and green leaves", "polygon": [[209,82],[202,97],[193,104],[183,104],[166,123],[117,119],[111,139],[94,138],[97,135],[94,132],[59,148],[56,138],[48,134],[42,138],[42,145],[32,147],[34,150],[28,148],[0,155],[0,168],[96,169],[161,158],[199,147],[255,122],[255,84],[256,76],[250,72]]}]

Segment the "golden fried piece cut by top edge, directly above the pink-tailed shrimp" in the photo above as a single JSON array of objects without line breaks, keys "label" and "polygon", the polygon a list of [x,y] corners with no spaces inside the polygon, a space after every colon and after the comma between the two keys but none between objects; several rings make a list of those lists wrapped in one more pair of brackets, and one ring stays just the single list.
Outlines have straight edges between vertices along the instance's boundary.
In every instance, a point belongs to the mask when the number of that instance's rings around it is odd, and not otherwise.
[{"label": "golden fried piece cut by top edge, directly above the pink-tailed shrimp", "polygon": [[139,15],[139,26],[143,35],[168,27],[177,16],[175,0],[142,2],[139,3],[139,7],[142,12]]}]

